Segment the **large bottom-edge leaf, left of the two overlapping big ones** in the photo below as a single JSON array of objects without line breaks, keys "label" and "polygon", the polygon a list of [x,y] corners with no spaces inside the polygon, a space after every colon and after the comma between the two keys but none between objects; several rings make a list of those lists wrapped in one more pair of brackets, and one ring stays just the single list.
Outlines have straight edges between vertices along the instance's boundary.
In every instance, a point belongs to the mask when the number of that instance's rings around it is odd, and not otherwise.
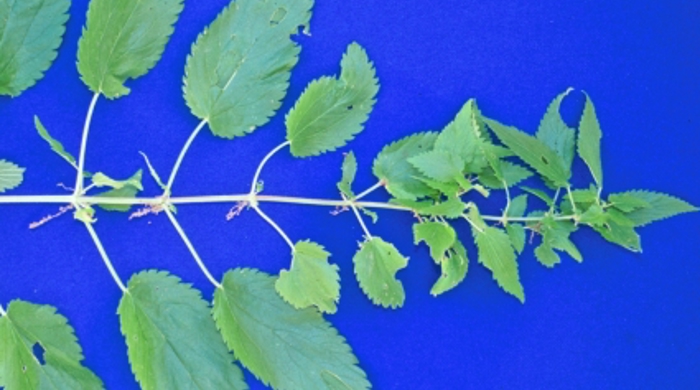
[{"label": "large bottom-edge leaf, left of the two overlapping big ones", "polygon": [[129,280],[119,303],[129,363],[144,390],[247,389],[199,291],[164,272]]}]

